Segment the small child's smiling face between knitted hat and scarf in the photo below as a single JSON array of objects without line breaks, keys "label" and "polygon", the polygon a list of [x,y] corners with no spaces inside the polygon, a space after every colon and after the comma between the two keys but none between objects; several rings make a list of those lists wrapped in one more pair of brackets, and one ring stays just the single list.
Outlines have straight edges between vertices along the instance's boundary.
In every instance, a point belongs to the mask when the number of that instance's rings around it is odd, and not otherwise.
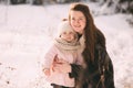
[{"label": "small child's smiling face between knitted hat and scarf", "polygon": [[75,37],[73,32],[63,32],[61,34],[61,38],[63,38],[66,42],[72,42]]}]

